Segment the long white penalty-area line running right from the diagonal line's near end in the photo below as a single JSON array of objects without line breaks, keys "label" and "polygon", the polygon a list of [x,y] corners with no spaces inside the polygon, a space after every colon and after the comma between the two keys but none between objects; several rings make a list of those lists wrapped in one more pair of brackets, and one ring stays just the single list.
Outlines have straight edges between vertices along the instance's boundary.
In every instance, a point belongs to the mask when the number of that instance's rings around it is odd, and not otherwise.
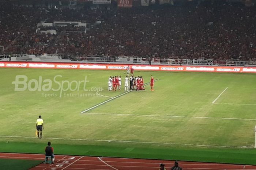
[{"label": "long white penalty-area line running right from the diagonal line's near end", "polygon": [[193,117],[193,116],[122,114],[122,113],[86,113],[86,114],[113,115],[113,116],[175,117],[175,118],[198,118],[198,119],[222,119],[222,120],[248,120],[248,121],[256,121],[256,119],[228,118],[228,117]]}]

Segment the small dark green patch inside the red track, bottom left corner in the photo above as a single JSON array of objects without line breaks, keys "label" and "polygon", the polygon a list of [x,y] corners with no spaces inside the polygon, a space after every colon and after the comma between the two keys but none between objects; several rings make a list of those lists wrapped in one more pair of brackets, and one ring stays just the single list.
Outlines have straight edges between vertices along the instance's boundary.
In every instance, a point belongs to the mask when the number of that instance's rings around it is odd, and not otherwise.
[{"label": "small dark green patch inside the red track, bottom left corner", "polygon": [[40,160],[21,160],[21,159],[0,159],[0,169],[3,170],[28,170],[37,166]]}]

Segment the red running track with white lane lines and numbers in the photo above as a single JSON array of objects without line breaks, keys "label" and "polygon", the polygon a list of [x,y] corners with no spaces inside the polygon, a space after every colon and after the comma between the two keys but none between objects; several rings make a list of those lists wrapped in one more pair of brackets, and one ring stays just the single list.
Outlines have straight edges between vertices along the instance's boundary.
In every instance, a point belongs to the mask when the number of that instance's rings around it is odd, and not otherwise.
[{"label": "red running track with white lane lines and numbers", "polygon": [[[41,154],[0,153],[0,158],[43,161],[45,156]],[[160,163],[164,163],[166,169],[170,170],[174,161],[56,155],[54,164],[41,163],[30,170],[158,170]],[[251,165],[184,161],[180,161],[179,165],[184,170],[256,170],[256,166]]]}]

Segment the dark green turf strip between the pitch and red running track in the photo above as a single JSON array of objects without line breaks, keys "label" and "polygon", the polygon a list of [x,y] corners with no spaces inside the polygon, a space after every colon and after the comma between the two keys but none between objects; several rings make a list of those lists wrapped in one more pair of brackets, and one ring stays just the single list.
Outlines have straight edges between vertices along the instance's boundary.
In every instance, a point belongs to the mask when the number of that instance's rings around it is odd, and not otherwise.
[{"label": "dark green turf strip between the pitch and red running track", "polygon": [[[20,153],[44,153],[45,144],[42,143],[18,143],[0,142],[0,152],[20,152]],[[253,149],[231,149],[231,148],[188,148],[188,147],[165,147],[157,148],[146,145],[116,145],[116,143],[106,143],[105,145],[65,145],[54,144],[54,153],[61,155],[88,155],[88,156],[108,156],[123,158],[146,158],[146,159],[166,159],[166,160],[188,160],[200,162],[219,162],[256,165]]]}]

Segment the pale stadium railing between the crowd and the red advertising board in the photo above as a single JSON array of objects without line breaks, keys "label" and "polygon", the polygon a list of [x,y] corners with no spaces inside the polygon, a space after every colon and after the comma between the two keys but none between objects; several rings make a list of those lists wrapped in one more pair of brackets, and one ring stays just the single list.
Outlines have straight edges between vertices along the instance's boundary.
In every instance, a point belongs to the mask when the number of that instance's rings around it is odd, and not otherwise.
[{"label": "pale stadium railing between the crowd and the red advertising board", "polygon": [[[7,60],[9,54],[0,55],[0,60]],[[148,57],[128,57],[128,56],[72,56],[60,54],[11,54],[12,61],[47,61],[47,62],[75,62],[75,63],[112,63],[112,64],[149,64]],[[34,59],[34,60],[33,60]],[[152,57],[151,65],[212,65],[212,66],[244,66],[256,67],[255,61],[236,60],[212,60],[212,59],[191,59],[191,58],[159,58]]]}]

